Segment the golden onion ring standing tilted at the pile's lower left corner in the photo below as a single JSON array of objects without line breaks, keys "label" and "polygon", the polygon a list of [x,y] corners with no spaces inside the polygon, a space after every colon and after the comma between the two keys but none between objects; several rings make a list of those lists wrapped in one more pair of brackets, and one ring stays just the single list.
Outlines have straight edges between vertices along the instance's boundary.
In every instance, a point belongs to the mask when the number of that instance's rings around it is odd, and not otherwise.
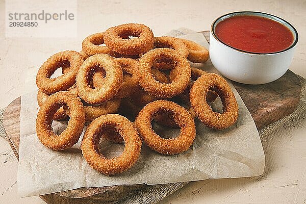
[{"label": "golden onion ring standing tilted at the pile's lower left corner", "polygon": [[[63,105],[70,110],[70,119],[66,130],[60,135],[52,131],[52,118]],[[78,142],[83,131],[85,113],[80,98],[74,94],[61,91],[50,95],[38,111],[36,133],[40,142],[53,150],[63,150]]]}]

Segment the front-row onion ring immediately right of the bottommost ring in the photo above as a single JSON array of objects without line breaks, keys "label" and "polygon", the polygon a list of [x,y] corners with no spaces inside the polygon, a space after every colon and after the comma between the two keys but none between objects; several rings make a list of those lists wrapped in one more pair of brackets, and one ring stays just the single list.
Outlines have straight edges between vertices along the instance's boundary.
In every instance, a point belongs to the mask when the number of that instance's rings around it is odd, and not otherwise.
[{"label": "front-row onion ring immediately right of the bottommost ring", "polygon": [[[174,121],[181,127],[176,138],[164,139],[152,129],[151,121],[159,112],[173,115]],[[161,154],[174,155],[186,151],[195,138],[195,123],[186,109],[168,100],[156,100],[146,105],[137,116],[135,126],[143,141]]]}]

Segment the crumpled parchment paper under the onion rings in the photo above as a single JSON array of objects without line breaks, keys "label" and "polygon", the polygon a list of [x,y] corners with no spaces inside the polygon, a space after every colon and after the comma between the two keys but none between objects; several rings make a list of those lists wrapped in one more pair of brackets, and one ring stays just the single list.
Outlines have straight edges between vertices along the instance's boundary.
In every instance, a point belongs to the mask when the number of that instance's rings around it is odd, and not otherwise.
[{"label": "crumpled parchment paper under the onion rings", "polygon": [[[202,34],[190,34],[182,38],[196,41],[208,47]],[[216,72],[210,62],[193,64],[198,68]],[[210,178],[246,177],[263,173],[265,156],[254,121],[241,97],[235,93],[239,117],[232,127],[215,131],[197,119],[196,139],[191,148],[182,154],[164,156],[142,145],[140,158],[132,168],[122,174],[106,176],[92,169],[82,156],[80,142],[64,151],[53,151],[42,145],[35,133],[37,88],[31,76],[31,91],[21,97],[20,149],[18,165],[18,196],[34,196],[66,191],[80,187],[101,187],[119,184],[164,184]],[[34,80],[33,80],[34,79]],[[216,109],[220,103],[214,103]],[[54,131],[65,123],[54,122]],[[154,124],[157,133],[164,136],[177,134],[179,130],[166,129]],[[117,156],[123,145],[104,142],[106,156]]]}]

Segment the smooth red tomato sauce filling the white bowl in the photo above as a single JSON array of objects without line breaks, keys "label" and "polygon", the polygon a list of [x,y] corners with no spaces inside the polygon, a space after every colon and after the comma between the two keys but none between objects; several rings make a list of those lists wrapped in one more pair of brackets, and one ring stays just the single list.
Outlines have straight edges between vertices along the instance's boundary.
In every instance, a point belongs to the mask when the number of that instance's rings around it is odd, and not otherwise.
[{"label": "smooth red tomato sauce filling the white bowl", "polygon": [[285,25],[260,16],[233,16],[215,27],[218,39],[231,47],[251,53],[275,53],[294,40]]}]

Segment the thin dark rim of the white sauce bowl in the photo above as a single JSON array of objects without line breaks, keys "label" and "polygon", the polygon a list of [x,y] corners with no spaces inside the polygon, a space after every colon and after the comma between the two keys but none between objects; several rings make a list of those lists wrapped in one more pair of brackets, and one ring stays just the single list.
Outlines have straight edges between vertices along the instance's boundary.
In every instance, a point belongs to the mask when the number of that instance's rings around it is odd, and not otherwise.
[{"label": "thin dark rim of the white sauce bowl", "polygon": [[[280,20],[282,20],[282,21],[285,21],[285,22],[292,28],[292,30],[295,32],[296,38],[295,38],[294,42],[293,42],[289,47],[287,47],[286,49],[283,49],[283,50],[280,50],[280,51],[277,51],[277,52],[273,52],[273,53],[254,53],[254,52],[248,52],[248,51],[245,51],[245,50],[242,50],[242,49],[238,49],[238,48],[232,47],[232,46],[230,46],[230,45],[228,45],[228,44],[222,42],[222,41],[216,36],[215,31],[214,31],[213,28],[215,27],[216,22],[217,22],[220,18],[223,18],[223,17],[228,16],[228,15],[240,14],[240,13],[265,14],[265,15],[268,15],[268,16],[272,16],[272,17],[274,17],[274,18],[278,18],[278,19],[280,19]],[[273,20],[273,19],[271,19],[271,20]],[[279,22],[279,23],[281,23],[281,22]],[[282,23],[282,24],[283,24],[283,23]],[[284,24],[283,24],[283,25],[284,25]],[[286,26],[286,25],[284,25],[284,26]],[[287,27],[287,26],[286,26],[286,27]],[[236,51],[238,51],[238,52],[246,53],[246,54],[252,54],[252,55],[274,55],[274,54],[278,54],[278,53],[284,53],[284,52],[286,52],[287,50],[293,48],[293,47],[297,44],[297,41],[298,41],[298,33],[297,33],[296,29],[293,27],[293,25],[292,25],[291,23],[289,23],[287,20],[284,20],[284,19],[281,18],[281,17],[275,16],[275,15],[272,15],[272,14],[269,14],[269,13],[259,12],[259,11],[236,11],[236,12],[231,12],[231,13],[227,13],[227,14],[224,14],[224,15],[222,15],[222,16],[219,16],[218,18],[216,18],[216,19],[213,21],[213,23],[212,23],[212,25],[211,25],[211,34],[213,35],[213,37],[214,37],[216,40],[218,40],[219,42],[221,42],[223,45],[225,45],[225,46],[227,46],[227,47],[230,47],[230,48],[232,48],[232,49],[234,49],[234,50],[236,50]]]}]

